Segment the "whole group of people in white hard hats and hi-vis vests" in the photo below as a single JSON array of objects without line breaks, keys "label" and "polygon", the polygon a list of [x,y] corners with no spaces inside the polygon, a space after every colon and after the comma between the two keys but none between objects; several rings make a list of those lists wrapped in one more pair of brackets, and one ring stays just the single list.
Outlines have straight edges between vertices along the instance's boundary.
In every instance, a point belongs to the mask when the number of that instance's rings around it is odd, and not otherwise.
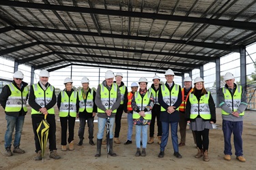
[{"label": "whole group of people in white hard hats and hi-vis vests", "polygon": [[[159,158],[165,156],[165,148],[169,138],[171,127],[171,141],[173,155],[182,158],[179,146],[186,145],[186,126],[190,124],[194,141],[197,145],[195,158],[203,156],[204,161],[209,161],[209,130],[216,122],[216,108],[212,95],[205,89],[202,78],[195,78],[194,87],[190,77],[184,78],[184,88],[173,81],[174,72],[168,69],[165,72],[166,82],[160,84],[160,78],[155,75],[153,84],[147,89],[146,78],[132,82],[131,92],[122,82],[122,73],[114,74],[106,71],[105,80],[98,85],[97,90],[89,88],[89,79],[81,80],[83,88],[78,92],[72,88],[72,80],[64,80],[65,89],[55,96],[55,88],[48,83],[50,77],[48,71],[40,71],[40,80],[29,89],[23,82],[24,75],[16,71],[12,83],[3,87],[0,94],[0,103],[5,109],[7,130],[5,132],[5,156],[13,153],[23,154],[20,149],[20,137],[23,130],[25,115],[27,114],[27,99],[31,106],[31,118],[35,140],[35,160],[42,160],[42,149],[36,129],[38,124],[46,120],[50,125],[48,132],[50,158],[59,159],[56,147],[56,123],[54,106],[57,103],[61,122],[61,150],[74,150],[74,124],[76,118],[80,120],[79,143],[83,145],[85,124],[89,131],[89,144],[95,145],[94,116],[98,116],[98,133],[96,141],[96,157],[101,156],[102,141],[106,122],[109,121],[109,150],[110,156],[117,156],[113,151],[113,142],[119,144],[119,133],[123,112],[127,113],[128,133],[125,145],[132,143],[132,128],[136,127],[136,153],[135,156],[146,156],[147,143],[154,143],[154,124],[158,126],[158,143],[160,144]],[[115,82],[114,82],[115,78]],[[223,135],[225,139],[224,159],[231,160],[231,133],[234,135],[236,158],[245,162],[242,150],[242,121],[246,109],[246,94],[242,86],[235,84],[232,73],[224,76],[225,86],[218,92],[219,106],[223,117]],[[156,121],[155,121],[156,120]],[[113,126],[115,124],[115,133]],[[180,125],[180,143],[178,143],[177,126]],[[150,139],[147,141],[147,129],[150,126]],[[12,133],[15,128],[14,149],[12,146]],[[68,140],[67,140],[68,131]],[[141,135],[142,134],[142,135]],[[68,141],[68,142],[67,142]],[[67,148],[68,145],[68,148]],[[142,150],[141,150],[142,146]]]}]

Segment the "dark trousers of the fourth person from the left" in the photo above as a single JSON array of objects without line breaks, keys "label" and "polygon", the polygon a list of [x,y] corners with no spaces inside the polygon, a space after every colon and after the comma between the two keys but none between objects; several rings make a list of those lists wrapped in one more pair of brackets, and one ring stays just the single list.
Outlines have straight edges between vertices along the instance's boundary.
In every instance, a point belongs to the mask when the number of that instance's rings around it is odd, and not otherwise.
[{"label": "dark trousers of the fourth person from the left", "polygon": [[85,134],[85,125],[87,120],[87,126],[88,126],[88,133],[89,133],[89,139],[94,138],[94,118],[79,118],[80,124],[79,124],[79,138],[85,139],[83,135]]}]

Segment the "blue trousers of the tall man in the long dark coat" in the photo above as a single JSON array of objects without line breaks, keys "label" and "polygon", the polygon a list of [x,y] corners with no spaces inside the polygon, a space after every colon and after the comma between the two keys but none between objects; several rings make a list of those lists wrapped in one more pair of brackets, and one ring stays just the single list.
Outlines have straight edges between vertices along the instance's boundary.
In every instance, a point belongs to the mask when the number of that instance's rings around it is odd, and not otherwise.
[{"label": "blue trousers of the tall man in the long dark coat", "polygon": [[167,141],[169,137],[169,124],[171,124],[171,141],[173,142],[174,152],[179,152],[179,146],[177,143],[177,124],[179,122],[162,122],[162,141],[160,144],[160,151],[165,151]]}]

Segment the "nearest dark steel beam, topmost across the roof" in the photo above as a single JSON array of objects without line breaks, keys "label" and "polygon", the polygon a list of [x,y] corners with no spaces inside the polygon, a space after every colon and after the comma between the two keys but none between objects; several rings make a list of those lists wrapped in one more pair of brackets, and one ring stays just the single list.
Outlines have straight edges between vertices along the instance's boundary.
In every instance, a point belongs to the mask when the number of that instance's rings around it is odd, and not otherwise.
[{"label": "nearest dark steel beam, topmost across the roof", "polygon": [[10,6],[10,7],[25,7],[25,8],[38,9],[38,10],[53,10],[53,11],[63,11],[63,12],[84,13],[84,14],[101,14],[101,15],[110,15],[110,16],[148,18],[152,20],[169,20],[169,21],[176,21],[176,22],[212,24],[212,25],[217,25],[221,27],[256,31],[255,22],[246,22],[246,21],[237,21],[237,20],[220,20],[220,19],[212,19],[212,18],[198,18],[198,17],[192,17],[192,16],[175,16],[175,15],[167,15],[167,14],[156,14],[156,13],[149,13],[149,12],[106,10],[106,9],[97,9],[97,8],[91,8],[91,7],[74,7],[74,6],[67,6],[67,5],[53,5],[53,4],[30,3],[30,2],[28,3],[28,2],[21,2],[21,1],[0,1],[0,5]]}]

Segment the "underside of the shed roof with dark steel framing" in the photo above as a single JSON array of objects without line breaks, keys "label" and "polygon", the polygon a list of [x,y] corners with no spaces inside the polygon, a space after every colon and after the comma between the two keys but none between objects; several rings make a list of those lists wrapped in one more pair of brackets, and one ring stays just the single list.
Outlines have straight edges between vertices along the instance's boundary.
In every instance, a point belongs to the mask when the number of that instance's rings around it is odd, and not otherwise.
[{"label": "underside of the shed roof with dark steel framing", "polygon": [[177,75],[256,41],[256,0],[0,1],[0,56]]}]

